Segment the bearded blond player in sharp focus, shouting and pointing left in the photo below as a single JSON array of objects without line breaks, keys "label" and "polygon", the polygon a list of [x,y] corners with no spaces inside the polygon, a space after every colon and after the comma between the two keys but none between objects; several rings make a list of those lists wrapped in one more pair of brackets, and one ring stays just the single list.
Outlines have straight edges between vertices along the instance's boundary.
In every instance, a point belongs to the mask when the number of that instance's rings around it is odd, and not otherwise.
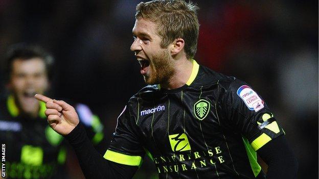
[{"label": "bearded blond player in sharp focus, shouting and pointing left", "polygon": [[295,177],[297,160],[263,99],[246,83],[193,60],[197,9],[180,0],[136,7],[131,50],[148,86],[129,99],[104,159],[72,106],[35,96],[47,103],[50,126],[73,145],[87,178],[131,178],[145,154],[159,178]]}]

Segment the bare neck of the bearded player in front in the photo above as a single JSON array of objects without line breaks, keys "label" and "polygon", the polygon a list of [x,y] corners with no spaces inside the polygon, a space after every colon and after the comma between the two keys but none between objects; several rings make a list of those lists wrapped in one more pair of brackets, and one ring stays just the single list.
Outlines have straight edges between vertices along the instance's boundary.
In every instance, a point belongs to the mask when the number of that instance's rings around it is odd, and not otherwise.
[{"label": "bare neck of the bearded player in front", "polygon": [[162,88],[171,90],[184,86],[189,80],[192,70],[192,60],[188,60],[186,57],[178,60],[174,60],[175,73],[166,82],[160,84]]}]

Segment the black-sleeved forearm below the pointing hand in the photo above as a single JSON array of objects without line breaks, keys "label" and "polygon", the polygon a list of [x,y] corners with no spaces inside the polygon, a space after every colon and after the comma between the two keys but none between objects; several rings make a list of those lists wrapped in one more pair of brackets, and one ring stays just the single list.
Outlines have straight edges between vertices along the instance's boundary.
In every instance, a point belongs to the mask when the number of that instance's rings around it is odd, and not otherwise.
[{"label": "black-sleeved forearm below the pointing hand", "polygon": [[86,178],[131,178],[138,167],[122,165],[104,159],[86,136],[83,126],[65,136],[73,146]]}]

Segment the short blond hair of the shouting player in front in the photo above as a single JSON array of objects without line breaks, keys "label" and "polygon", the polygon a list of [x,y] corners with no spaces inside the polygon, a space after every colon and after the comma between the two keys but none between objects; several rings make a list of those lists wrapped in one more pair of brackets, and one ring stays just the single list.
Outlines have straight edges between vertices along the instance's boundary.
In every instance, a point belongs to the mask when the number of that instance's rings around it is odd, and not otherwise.
[{"label": "short blond hair of the shouting player in front", "polygon": [[184,39],[186,57],[191,59],[197,50],[198,9],[195,4],[183,0],[141,2],[136,6],[135,19],[144,18],[157,24],[157,33],[162,37],[162,48],[177,38]]}]

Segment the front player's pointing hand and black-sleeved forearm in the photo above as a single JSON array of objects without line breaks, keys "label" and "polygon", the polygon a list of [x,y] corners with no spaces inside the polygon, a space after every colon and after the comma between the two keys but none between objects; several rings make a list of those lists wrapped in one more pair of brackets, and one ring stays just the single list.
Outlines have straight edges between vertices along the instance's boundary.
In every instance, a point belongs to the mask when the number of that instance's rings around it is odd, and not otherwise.
[{"label": "front player's pointing hand and black-sleeved forearm", "polygon": [[73,146],[86,178],[121,178],[133,176],[138,167],[118,164],[104,159],[89,141],[84,127],[79,123],[75,109],[62,100],[36,94],[45,103],[45,115],[54,131],[64,136]]}]

